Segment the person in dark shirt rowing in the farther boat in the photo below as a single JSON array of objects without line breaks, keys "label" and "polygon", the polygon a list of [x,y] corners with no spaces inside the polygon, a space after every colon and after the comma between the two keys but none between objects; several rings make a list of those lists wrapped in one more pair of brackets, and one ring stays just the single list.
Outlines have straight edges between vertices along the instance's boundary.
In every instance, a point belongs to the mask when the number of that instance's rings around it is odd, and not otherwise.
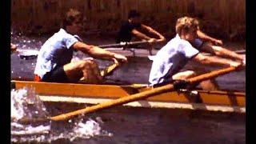
[{"label": "person in dark shirt rowing in the farther boat", "polygon": [[[146,32],[150,34],[154,34],[159,39],[156,38],[150,38],[146,34],[143,34],[139,30],[146,30]],[[122,26],[118,32],[118,38],[117,43],[120,42],[130,42],[132,36],[136,36],[142,40],[146,40],[150,44],[153,42],[164,42],[166,41],[166,38],[162,36],[162,34],[158,33],[158,31],[154,30],[150,26],[146,26],[140,22],[140,14],[137,10],[130,10],[128,14],[128,20],[126,22],[122,23]],[[149,46],[149,53],[152,55],[152,46]],[[132,51],[132,50],[131,50]]]}]

